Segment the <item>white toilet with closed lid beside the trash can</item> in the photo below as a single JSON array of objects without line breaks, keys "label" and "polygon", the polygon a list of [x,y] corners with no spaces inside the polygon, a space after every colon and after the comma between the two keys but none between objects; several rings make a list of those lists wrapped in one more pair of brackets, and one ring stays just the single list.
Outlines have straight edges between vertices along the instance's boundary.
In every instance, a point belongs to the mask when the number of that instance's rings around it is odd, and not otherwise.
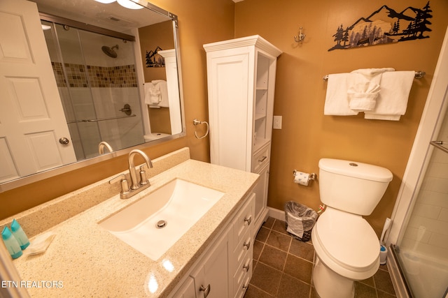
[{"label": "white toilet with closed lid beside the trash can", "polygon": [[377,165],[322,158],[319,191],[326,205],[311,231],[313,283],[321,298],[354,297],[354,281],[379,268],[379,239],[363,216],[381,200],[391,171]]}]

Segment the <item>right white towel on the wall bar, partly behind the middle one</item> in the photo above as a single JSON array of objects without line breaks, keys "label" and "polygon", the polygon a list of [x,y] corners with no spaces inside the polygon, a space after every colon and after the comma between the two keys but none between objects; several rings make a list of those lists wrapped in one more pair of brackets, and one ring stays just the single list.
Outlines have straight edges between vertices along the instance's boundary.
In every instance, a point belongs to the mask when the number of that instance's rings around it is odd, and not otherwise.
[{"label": "right white towel on the wall bar, partly behind the middle one", "polygon": [[407,100],[414,81],[414,71],[392,71],[383,73],[381,91],[374,110],[365,112],[365,119],[400,120],[407,109]]}]

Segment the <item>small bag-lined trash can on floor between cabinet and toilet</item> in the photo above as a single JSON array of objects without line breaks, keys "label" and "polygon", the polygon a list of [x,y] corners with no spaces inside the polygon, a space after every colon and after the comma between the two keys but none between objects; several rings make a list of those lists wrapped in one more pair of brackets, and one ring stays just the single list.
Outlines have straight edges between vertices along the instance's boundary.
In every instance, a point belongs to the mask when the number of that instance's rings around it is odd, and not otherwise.
[{"label": "small bag-lined trash can on floor between cabinet and toilet", "polygon": [[285,204],[286,231],[300,241],[311,239],[311,229],[317,221],[317,212],[294,201]]}]

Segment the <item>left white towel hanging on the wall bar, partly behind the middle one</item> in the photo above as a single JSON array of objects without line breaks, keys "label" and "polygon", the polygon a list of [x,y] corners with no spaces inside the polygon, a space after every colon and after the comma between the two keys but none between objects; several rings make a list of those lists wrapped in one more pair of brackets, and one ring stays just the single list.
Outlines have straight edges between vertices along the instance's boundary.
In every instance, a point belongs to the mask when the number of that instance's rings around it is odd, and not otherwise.
[{"label": "left white towel hanging on the wall bar, partly behind the middle one", "polygon": [[328,75],[327,94],[323,114],[335,116],[356,115],[358,112],[349,107],[347,96],[348,73],[335,73]]}]

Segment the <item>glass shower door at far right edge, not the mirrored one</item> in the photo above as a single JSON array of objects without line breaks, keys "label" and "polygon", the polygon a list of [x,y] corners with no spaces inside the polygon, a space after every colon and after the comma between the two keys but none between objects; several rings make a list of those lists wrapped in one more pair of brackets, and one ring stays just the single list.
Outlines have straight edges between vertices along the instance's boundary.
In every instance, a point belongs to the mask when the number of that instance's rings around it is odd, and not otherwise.
[{"label": "glass shower door at far right edge, not the mirrored one", "polygon": [[[445,100],[447,100],[445,98]],[[395,249],[413,297],[446,297],[448,288],[448,117],[428,155],[426,172]]]}]

